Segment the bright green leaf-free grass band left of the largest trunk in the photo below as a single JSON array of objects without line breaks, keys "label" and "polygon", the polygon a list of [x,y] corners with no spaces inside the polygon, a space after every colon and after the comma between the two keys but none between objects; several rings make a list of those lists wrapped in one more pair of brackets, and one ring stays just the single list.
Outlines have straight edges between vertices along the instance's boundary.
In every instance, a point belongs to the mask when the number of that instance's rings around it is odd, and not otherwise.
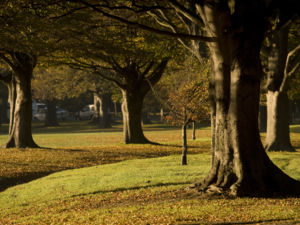
[{"label": "bright green leaf-free grass band left of the largest trunk", "polygon": [[67,170],[7,189],[0,193],[0,208],[74,195],[192,183],[208,172],[209,158],[209,154],[192,155],[188,166],[181,166],[177,155]]}]

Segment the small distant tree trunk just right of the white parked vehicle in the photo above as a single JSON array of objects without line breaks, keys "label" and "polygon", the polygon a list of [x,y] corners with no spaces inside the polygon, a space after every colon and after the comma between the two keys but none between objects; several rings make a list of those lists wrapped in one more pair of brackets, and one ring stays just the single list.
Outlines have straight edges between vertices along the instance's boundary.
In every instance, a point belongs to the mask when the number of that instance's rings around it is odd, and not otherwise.
[{"label": "small distant tree trunk just right of the white parked vehicle", "polygon": [[99,128],[111,127],[111,118],[109,115],[110,98],[110,94],[94,93],[95,111],[92,120],[98,124]]}]

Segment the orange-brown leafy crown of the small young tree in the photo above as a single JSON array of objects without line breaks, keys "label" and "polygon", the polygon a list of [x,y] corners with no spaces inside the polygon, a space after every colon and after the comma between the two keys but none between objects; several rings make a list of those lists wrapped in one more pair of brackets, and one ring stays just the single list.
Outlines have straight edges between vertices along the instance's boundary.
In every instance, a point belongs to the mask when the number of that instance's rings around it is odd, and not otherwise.
[{"label": "orange-brown leafy crown of the small young tree", "polygon": [[[198,70],[197,70],[198,69]],[[209,118],[208,73],[209,61],[195,66],[193,58],[184,63],[184,69],[172,73],[164,81],[167,92],[167,120],[184,125],[192,121],[206,121]]]}]

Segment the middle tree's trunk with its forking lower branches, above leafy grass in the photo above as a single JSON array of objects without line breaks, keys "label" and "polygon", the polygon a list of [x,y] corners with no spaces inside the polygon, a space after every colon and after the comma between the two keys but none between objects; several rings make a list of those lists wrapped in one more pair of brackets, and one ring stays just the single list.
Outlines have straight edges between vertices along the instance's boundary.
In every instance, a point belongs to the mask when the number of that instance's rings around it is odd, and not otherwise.
[{"label": "middle tree's trunk with its forking lower branches, above leafy grass", "polygon": [[129,143],[152,143],[144,136],[142,129],[142,109],[146,94],[161,78],[169,59],[163,59],[153,68],[154,62],[141,71],[136,62],[129,62],[125,67],[118,65],[117,71],[122,81],[114,80],[122,91],[122,114],[124,141]]}]

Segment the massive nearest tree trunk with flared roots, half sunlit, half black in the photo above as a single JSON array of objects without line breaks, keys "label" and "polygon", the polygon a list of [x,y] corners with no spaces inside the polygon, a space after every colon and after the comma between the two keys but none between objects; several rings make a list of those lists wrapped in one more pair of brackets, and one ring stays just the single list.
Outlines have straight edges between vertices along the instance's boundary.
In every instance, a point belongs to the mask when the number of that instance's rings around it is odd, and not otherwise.
[{"label": "massive nearest tree trunk with flared roots, half sunlit, half black", "polygon": [[208,34],[217,37],[217,42],[209,44],[216,109],[212,167],[199,188],[234,196],[300,194],[300,182],[271,162],[260,140],[263,73],[259,54],[265,21],[261,5],[252,5],[251,1],[241,4],[238,6],[247,10],[239,9],[236,17],[222,4],[204,6],[201,12]]}]

